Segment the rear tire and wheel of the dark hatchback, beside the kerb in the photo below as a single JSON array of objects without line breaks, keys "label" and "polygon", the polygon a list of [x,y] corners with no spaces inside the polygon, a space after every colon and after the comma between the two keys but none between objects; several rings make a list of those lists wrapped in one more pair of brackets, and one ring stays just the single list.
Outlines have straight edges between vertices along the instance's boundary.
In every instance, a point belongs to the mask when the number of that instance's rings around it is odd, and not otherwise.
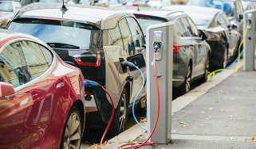
[{"label": "rear tire and wheel of the dark hatchback, beside the kerb", "polygon": [[127,128],[128,121],[128,91],[124,88],[120,95],[119,103],[115,109],[115,115],[110,128],[110,135],[118,135]]}]

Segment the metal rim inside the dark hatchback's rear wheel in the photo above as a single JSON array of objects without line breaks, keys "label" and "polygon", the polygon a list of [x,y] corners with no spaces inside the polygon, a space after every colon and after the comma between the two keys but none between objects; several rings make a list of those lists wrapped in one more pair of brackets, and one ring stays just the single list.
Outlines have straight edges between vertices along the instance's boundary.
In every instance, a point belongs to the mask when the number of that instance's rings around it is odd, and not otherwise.
[{"label": "metal rim inside the dark hatchback's rear wheel", "polygon": [[123,94],[121,97],[121,103],[120,103],[120,132],[124,131],[125,124],[126,124],[126,116],[127,116],[127,102],[126,102],[126,96]]}]

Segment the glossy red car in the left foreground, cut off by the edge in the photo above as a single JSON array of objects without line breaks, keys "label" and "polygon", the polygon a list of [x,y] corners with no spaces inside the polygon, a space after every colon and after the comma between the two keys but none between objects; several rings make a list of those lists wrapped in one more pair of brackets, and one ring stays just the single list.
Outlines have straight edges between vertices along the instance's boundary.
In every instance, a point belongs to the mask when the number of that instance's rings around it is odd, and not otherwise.
[{"label": "glossy red car in the left foreground, cut off by the edge", "polygon": [[0,148],[72,148],[85,126],[84,77],[32,36],[0,30]]}]

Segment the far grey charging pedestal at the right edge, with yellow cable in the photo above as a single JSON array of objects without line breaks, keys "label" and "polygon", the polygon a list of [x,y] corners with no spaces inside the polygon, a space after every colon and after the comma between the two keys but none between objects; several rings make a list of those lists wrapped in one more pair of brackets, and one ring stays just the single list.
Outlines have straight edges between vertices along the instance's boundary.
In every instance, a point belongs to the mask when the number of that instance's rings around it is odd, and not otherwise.
[{"label": "far grey charging pedestal at the right edge, with yellow cable", "polygon": [[249,24],[247,36],[243,43],[243,70],[254,71],[255,69],[255,44],[256,44],[256,10],[248,10],[243,16],[243,33],[246,33],[246,25]]}]

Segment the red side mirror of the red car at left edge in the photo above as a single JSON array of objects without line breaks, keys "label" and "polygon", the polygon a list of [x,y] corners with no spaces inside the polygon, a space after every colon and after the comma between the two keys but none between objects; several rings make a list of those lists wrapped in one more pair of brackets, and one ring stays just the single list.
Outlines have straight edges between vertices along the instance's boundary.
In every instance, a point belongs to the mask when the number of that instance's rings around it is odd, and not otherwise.
[{"label": "red side mirror of the red car at left edge", "polygon": [[0,82],[0,99],[9,99],[10,97],[13,97],[14,94],[13,85],[6,82]]}]

